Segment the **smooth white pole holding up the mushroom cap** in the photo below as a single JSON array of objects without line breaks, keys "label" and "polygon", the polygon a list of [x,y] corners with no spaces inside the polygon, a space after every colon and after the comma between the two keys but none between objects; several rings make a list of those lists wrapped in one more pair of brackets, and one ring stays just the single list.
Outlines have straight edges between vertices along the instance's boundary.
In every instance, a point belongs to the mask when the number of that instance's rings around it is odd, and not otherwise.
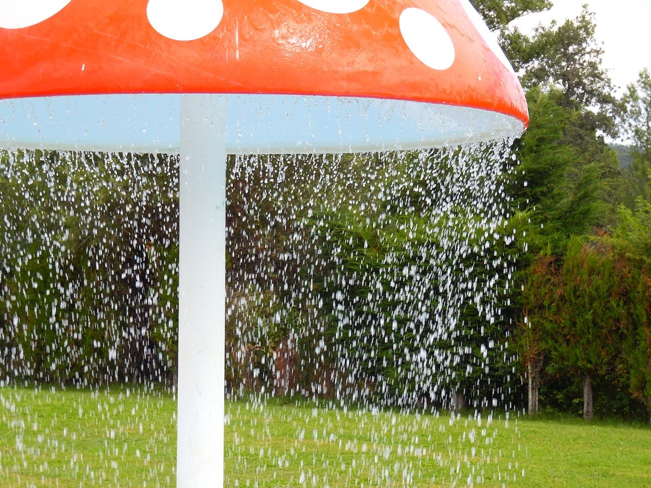
[{"label": "smooth white pole holding up the mushroom cap", "polygon": [[225,126],[225,96],[181,96],[178,488],[223,487]]}]

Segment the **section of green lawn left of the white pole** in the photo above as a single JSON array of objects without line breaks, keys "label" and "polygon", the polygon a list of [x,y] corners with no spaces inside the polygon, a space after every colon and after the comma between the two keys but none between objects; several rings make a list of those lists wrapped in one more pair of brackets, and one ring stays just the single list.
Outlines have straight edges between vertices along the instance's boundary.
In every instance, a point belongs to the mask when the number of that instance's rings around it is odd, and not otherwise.
[{"label": "section of green lawn left of the white pole", "polygon": [[0,487],[175,486],[176,402],[133,388],[0,388]]}]

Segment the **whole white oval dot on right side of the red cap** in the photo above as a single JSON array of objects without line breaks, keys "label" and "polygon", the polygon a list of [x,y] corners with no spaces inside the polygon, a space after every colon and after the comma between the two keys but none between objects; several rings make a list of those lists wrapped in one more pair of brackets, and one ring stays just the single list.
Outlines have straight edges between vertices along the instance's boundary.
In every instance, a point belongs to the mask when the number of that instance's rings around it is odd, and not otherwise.
[{"label": "whole white oval dot on right side of the red cap", "polygon": [[454,62],[454,44],[445,27],[429,12],[406,8],[400,14],[400,33],[420,61],[434,70],[447,70]]}]

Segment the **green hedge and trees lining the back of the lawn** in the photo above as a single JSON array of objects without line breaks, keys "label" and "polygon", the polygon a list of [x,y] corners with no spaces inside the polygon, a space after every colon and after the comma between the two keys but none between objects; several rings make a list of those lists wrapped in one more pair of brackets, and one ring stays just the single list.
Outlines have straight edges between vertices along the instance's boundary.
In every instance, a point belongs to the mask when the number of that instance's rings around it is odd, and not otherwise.
[{"label": "green hedge and trees lining the back of the lawn", "polygon": [[[649,408],[648,70],[617,103],[587,8],[527,36],[510,21],[550,1],[473,3],[527,87],[531,122],[516,145],[518,173],[505,167],[503,175],[516,208],[505,209],[508,221],[494,234],[478,232],[477,215],[459,203],[465,195],[436,190],[460,178],[454,158],[430,166],[435,184],[427,185],[411,172],[422,157],[415,154],[299,156],[289,164],[280,156],[230,157],[227,382],[236,393],[271,388],[275,355],[295,339],[298,390],[309,396],[331,396],[334,385],[348,399],[369,394],[396,404],[418,392],[424,403],[436,386],[465,390],[481,404],[517,391],[508,365],[515,351],[521,373],[540,368],[548,406],[579,409],[574,379],[589,372],[604,413],[634,416],[635,402]],[[626,180],[603,142],[617,129],[633,142]],[[0,157],[1,379],[173,381],[175,161]],[[389,186],[391,195],[378,197]],[[456,203],[432,214],[432,202],[446,198]],[[145,228],[133,228],[137,215]],[[611,227],[611,236],[586,244],[599,227]],[[465,243],[465,251],[445,255],[445,239]],[[305,243],[314,241],[311,256]],[[493,279],[488,264],[496,256],[504,269],[517,265],[510,278],[518,286],[495,278],[490,298],[501,309],[491,311],[498,318],[491,323],[490,300],[470,286]],[[442,260],[454,264],[450,282],[431,278]],[[448,305],[460,312],[442,319]],[[436,340],[423,344],[426,336]],[[445,364],[436,385],[422,353]],[[337,364],[338,355],[353,362]],[[487,378],[492,386],[480,390]]]}]

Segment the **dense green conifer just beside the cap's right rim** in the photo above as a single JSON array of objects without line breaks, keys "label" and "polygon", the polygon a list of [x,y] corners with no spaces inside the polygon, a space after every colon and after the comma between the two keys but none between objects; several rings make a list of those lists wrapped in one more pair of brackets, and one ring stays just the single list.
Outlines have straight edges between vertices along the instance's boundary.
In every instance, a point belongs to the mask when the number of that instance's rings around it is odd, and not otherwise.
[{"label": "dense green conifer just beside the cap's right rim", "polygon": [[[572,112],[559,104],[555,91],[527,92],[531,122],[517,146],[519,176],[511,187],[529,251],[522,269],[538,252],[564,250],[572,235],[587,234],[608,208],[609,174],[600,161],[585,161],[565,141]],[[613,163],[613,161],[611,161]]]}]

